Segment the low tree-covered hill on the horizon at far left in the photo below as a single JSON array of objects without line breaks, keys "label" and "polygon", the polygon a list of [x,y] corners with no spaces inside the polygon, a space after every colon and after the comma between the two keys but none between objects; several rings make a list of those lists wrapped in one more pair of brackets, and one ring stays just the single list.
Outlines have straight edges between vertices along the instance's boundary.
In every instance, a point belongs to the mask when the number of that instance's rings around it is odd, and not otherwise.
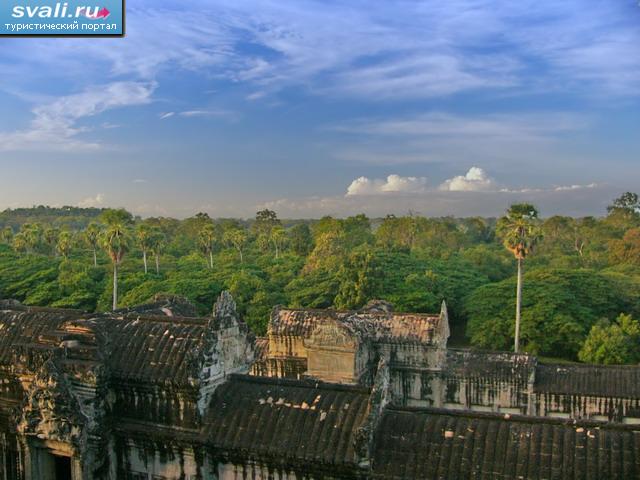
[{"label": "low tree-covered hill on the horizon at far left", "polygon": [[56,227],[82,229],[96,220],[101,208],[47,207],[38,205],[31,208],[6,209],[0,212],[0,228],[7,225],[18,230],[24,223],[43,223]]}]

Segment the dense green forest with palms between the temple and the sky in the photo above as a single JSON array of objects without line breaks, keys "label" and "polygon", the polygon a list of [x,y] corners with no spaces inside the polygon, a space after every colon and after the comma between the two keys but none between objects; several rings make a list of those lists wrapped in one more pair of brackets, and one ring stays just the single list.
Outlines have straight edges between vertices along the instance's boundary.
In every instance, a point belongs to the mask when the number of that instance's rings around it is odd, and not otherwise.
[{"label": "dense green forest with palms between the temple and the sky", "polygon": [[[520,272],[522,275],[518,274]],[[0,298],[108,310],[178,294],[208,313],[223,289],[264,334],[274,305],[436,312],[451,343],[596,363],[640,362],[640,202],[602,217],[184,220],[76,207],[0,213]],[[114,295],[114,289],[116,295]],[[517,342],[516,342],[517,344]]]}]

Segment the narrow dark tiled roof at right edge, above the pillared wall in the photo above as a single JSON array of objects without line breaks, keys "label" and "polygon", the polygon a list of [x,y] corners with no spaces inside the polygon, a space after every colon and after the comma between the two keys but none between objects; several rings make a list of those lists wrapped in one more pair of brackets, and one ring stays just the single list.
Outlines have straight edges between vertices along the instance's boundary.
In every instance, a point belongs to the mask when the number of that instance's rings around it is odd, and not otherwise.
[{"label": "narrow dark tiled roof at right edge, above the pillared wall", "polygon": [[640,397],[640,366],[538,365],[536,392]]}]

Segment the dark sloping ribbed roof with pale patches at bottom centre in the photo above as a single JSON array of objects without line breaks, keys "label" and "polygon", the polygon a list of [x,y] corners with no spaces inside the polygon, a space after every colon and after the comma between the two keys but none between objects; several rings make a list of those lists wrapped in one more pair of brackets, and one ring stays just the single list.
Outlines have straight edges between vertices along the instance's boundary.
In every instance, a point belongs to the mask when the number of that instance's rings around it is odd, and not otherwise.
[{"label": "dark sloping ribbed roof with pale patches at bottom centre", "polygon": [[234,375],[212,398],[207,442],[229,457],[352,465],[368,399],[359,387]]}]

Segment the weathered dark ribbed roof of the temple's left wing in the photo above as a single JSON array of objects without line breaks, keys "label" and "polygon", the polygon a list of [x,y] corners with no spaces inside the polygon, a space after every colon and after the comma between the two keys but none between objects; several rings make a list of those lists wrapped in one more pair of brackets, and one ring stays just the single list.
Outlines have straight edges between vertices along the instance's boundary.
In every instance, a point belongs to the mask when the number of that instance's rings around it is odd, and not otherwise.
[{"label": "weathered dark ribbed roof of the temple's left wing", "polygon": [[[221,303],[232,302],[223,297]],[[174,311],[189,310],[184,302],[174,306],[171,299],[155,300],[95,315],[3,301],[0,367],[13,365],[17,349],[64,351],[71,357],[76,350],[91,349],[98,351],[100,361],[119,380],[193,385],[203,352],[210,347],[207,338],[213,339],[216,331],[228,326],[229,312],[217,312],[216,317],[174,317]],[[158,305],[162,305],[160,314],[153,315]],[[235,309],[235,304],[230,307]]]}]

